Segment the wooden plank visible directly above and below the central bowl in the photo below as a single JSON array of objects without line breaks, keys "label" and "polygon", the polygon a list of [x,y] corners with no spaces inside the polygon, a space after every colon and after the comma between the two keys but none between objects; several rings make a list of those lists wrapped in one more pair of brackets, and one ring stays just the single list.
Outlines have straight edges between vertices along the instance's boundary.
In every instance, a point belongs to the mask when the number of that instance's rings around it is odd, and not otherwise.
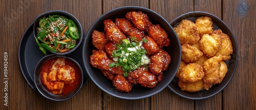
[{"label": "wooden plank visible directly above and below the central bowl", "polygon": [[[103,0],[103,13],[108,12],[112,9],[122,7],[122,6],[140,6],[148,8],[148,1],[136,1],[136,0],[114,0],[108,1]],[[106,93],[103,93],[103,109],[150,109],[150,98],[140,99],[140,100],[124,100],[115,98]],[[106,100],[105,100],[106,99]]]}]

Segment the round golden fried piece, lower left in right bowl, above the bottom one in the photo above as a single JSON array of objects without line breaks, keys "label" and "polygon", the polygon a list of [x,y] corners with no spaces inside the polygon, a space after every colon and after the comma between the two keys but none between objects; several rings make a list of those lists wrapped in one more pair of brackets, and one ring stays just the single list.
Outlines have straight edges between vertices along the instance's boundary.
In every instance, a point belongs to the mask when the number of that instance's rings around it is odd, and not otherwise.
[{"label": "round golden fried piece, lower left in right bowl, above the bottom one", "polygon": [[204,77],[203,68],[197,63],[188,63],[180,71],[179,80],[183,82],[197,82]]}]

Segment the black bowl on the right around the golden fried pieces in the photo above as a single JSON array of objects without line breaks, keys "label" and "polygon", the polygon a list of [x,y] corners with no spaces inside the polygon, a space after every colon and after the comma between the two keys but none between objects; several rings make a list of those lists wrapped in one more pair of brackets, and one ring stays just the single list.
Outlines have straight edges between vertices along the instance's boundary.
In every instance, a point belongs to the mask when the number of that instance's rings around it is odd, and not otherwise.
[{"label": "black bowl on the right around the golden fried pieces", "polygon": [[227,68],[228,68],[226,76],[224,77],[224,79],[222,80],[222,82],[220,84],[216,84],[216,85],[212,86],[210,88],[210,90],[208,90],[208,91],[201,90],[201,91],[193,92],[193,93],[181,91],[180,87],[178,86],[178,78],[177,77],[175,77],[173,79],[173,81],[170,82],[170,84],[168,85],[168,88],[170,90],[172,90],[175,94],[177,94],[181,97],[184,97],[187,99],[193,99],[193,100],[206,99],[206,98],[215,96],[216,94],[221,92],[226,87],[226,85],[229,83],[231,78],[233,77],[234,72],[236,71],[236,68],[237,68],[237,64],[238,64],[238,47],[237,47],[236,38],[234,37],[233,33],[228,28],[228,26],[217,16],[212,15],[210,13],[206,13],[206,12],[199,12],[199,11],[189,12],[189,13],[185,13],[185,14],[177,17],[176,19],[174,19],[170,23],[170,25],[172,27],[177,27],[180,24],[180,22],[182,21],[182,19],[188,19],[195,23],[196,19],[201,16],[210,17],[212,20],[212,23],[213,23],[214,30],[221,29],[223,31],[223,33],[226,33],[229,36],[231,43],[232,43],[233,53],[231,54],[231,59],[228,61],[225,61],[225,63],[227,64]]}]

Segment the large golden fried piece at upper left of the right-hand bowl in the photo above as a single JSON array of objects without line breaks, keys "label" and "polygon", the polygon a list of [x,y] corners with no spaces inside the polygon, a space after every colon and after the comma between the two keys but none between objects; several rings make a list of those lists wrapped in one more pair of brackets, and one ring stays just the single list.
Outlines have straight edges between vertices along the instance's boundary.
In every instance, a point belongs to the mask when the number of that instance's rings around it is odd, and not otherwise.
[{"label": "large golden fried piece at upper left of the right-hand bowl", "polygon": [[181,45],[183,43],[193,45],[200,39],[196,24],[187,19],[183,19],[181,23],[174,28],[174,31],[178,35]]}]

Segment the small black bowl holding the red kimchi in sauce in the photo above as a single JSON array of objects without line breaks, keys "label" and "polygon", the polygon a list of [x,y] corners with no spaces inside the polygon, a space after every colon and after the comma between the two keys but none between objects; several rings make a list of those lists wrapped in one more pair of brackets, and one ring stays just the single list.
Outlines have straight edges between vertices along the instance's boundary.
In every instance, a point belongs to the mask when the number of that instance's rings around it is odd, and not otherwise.
[{"label": "small black bowl holding the red kimchi in sauce", "polygon": [[[42,65],[49,59],[60,58],[60,57],[63,57],[63,58],[66,58],[66,59],[69,59],[70,61],[72,61],[75,64],[74,66],[77,67],[79,74],[80,74],[80,79],[79,79],[80,81],[79,81],[77,87],[75,88],[75,90],[73,90],[71,93],[69,93],[67,95],[54,95],[54,94],[48,92],[45,89],[45,87],[42,85],[41,80],[40,80],[40,70],[41,70]],[[59,56],[59,55],[54,55],[54,54],[47,55],[47,56],[43,57],[42,59],[40,59],[39,62],[36,64],[36,67],[34,70],[34,83],[35,83],[36,89],[42,96],[44,96],[48,99],[54,100],[54,101],[68,100],[68,99],[72,98],[73,96],[75,96],[82,87],[82,84],[83,84],[82,68],[80,67],[80,65],[77,61],[75,61],[74,59],[72,59],[70,57]]]}]

